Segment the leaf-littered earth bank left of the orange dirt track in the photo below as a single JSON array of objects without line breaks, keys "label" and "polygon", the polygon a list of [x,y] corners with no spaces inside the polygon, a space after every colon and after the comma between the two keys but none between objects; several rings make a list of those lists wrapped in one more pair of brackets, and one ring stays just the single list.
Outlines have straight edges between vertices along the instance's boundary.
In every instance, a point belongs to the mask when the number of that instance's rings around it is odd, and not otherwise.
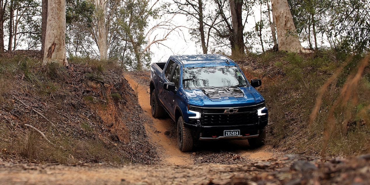
[{"label": "leaf-littered earth bank left of the orange dirt track", "polygon": [[160,161],[148,141],[137,96],[122,78],[121,68],[73,60],[67,69],[42,67],[37,56],[29,55],[0,60],[4,161]]}]

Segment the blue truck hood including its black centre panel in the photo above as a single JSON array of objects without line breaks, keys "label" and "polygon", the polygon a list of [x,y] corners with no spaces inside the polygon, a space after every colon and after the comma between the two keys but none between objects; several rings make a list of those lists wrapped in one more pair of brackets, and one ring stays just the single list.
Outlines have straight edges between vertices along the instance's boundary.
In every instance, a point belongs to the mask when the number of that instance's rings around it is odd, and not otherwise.
[{"label": "blue truck hood including its black centre panel", "polygon": [[265,101],[253,87],[184,90],[188,104],[202,107],[243,107]]}]

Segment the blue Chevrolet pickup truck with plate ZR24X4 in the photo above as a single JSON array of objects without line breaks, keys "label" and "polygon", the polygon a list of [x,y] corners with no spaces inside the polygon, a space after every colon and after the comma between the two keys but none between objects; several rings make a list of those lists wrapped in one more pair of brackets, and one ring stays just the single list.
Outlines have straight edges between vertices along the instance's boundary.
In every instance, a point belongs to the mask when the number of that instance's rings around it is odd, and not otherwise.
[{"label": "blue Chevrolet pickup truck with plate ZR24X4", "polygon": [[195,140],[248,139],[265,142],[268,110],[238,65],[221,54],[172,55],[151,65],[150,104],[154,118],[168,114],[177,124],[179,149]]}]

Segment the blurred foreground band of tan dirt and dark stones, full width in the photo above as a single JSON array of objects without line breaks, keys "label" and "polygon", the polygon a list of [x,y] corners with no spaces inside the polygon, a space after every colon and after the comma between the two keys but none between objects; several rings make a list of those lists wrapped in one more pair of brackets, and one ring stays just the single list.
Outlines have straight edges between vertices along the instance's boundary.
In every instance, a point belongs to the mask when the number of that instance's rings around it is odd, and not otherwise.
[{"label": "blurred foreground band of tan dirt and dark stones, full width", "polygon": [[370,155],[353,158],[287,154],[249,165],[12,164],[0,162],[2,184],[370,184]]}]

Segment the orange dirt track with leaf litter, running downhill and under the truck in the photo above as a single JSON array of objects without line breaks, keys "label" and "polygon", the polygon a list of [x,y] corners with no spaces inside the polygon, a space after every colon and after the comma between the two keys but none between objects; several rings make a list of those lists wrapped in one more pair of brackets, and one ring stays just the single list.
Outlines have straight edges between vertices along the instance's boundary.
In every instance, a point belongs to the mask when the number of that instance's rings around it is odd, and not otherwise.
[{"label": "orange dirt track with leaf litter, running downhill and under the truck", "polygon": [[162,151],[164,164],[246,164],[283,155],[271,152],[273,149],[269,145],[253,149],[249,147],[247,140],[197,142],[193,152],[181,152],[178,149],[174,121],[170,118],[156,119],[151,115],[148,79],[140,79],[142,76],[138,76],[138,73],[125,74],[125,78],[137,93],[139,105],[153,121],[152,124],[147,122],[145,129],[153,145],[158,146],[158,151]]}]

